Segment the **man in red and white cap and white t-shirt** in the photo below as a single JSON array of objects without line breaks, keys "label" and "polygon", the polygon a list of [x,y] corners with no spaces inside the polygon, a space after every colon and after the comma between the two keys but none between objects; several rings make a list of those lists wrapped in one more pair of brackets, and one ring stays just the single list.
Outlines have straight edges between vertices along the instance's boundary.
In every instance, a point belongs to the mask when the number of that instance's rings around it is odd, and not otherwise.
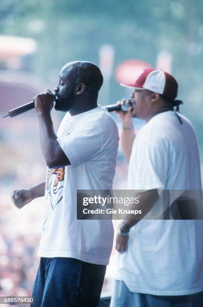
[{"label": "man in red and white cap and white t-shirt", "polygon": [[[161,210],[168,212],[167,198],[160,207],[161,191],[172,196],[172,190],[177,195],[180,190],[201,194],[196,135],[178,112],[178,85],[170,74],[147,69],[130,87],[134,103],[128,112],[119,113],[122,146],[130,160],[128,189],[145,190],[133,209],[142,209],[142,217],[152,211],[158,217]],[[147,122],[137,135],[132,117]],[[165,220],[122,221],[111,307],[191,306],[191,294],[203,290],[202,233],[202,220],[175,220],[170,210]]]}]

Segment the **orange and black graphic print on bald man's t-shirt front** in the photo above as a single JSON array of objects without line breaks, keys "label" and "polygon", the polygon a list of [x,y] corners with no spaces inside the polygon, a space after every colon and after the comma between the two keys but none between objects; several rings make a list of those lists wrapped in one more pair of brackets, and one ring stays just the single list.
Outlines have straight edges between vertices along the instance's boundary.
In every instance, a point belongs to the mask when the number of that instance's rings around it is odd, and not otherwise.
[{"label": "orange and black graphic print on bald man's t-shirt front", "polygon": [[46,224],[50,215],[55,211],[56,206],[62,201],[63,187],[64,187],[64,175],[65,168],[49,169],[47,168],[46,176],[46,190],[45,190],[45,202],[46,202],[46,214],[43,230],[46,228]]}]

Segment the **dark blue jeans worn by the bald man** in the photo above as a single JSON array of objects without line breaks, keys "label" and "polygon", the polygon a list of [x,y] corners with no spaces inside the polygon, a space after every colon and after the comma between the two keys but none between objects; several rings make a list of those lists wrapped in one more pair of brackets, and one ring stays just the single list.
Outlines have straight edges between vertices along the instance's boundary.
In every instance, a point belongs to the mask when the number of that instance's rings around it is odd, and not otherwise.
[{"label": "dark blue jeans worn by the bald man", "polygon": [[41,257],[32,307],[97,307],[106,265],[78,259]]}]

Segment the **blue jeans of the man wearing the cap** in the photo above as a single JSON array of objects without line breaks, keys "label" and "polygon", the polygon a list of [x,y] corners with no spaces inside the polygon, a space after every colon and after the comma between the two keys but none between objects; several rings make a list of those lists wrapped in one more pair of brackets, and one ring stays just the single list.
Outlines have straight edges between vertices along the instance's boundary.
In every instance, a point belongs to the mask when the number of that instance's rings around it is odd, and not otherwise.
[{"label": "blue jeans of the man wearing the cap", "polygon": [[192,307],[191,295],[165,296],[131,292],[124,281],[115,280],[111,307]]}]

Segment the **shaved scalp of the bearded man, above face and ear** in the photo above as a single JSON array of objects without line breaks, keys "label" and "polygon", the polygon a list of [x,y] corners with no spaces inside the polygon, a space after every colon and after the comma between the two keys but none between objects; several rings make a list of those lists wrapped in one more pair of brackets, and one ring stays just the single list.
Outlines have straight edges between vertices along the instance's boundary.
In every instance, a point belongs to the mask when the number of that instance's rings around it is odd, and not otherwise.
[{"label": "shaved scalp of the bearded man, above face and ear", "polygon": [[103,84],[103,75],[94,63],[86,61],[75,61],[67,63],[61,69],[61,75],[68,78],[74,85],[84,83],[87,91],[98,91]]}]

